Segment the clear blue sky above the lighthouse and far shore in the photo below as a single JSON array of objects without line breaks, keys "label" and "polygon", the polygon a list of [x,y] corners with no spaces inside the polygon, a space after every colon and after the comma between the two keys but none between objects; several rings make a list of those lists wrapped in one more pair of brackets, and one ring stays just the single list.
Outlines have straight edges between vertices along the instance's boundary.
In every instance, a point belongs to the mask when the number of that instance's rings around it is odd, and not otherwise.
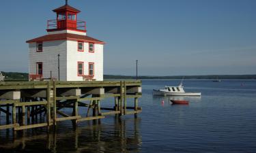
[{"label": "clear blue sky above the lighthouse and far shore", "polygon": [[[2,0],[0,71],[28,72],[28,39],[64,0]],[[69,0],[106,42],[104,74],[256,74],[255,0]]]}]

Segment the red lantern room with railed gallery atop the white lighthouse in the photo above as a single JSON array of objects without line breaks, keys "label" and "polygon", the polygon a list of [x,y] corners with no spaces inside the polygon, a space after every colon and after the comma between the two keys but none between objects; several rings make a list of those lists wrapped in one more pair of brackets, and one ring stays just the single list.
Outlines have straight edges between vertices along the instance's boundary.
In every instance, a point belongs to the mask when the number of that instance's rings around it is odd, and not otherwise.
[{"label": "red lantern room with railed gallery atop the white lighthouse", "polygon": [[85,22],[77,20],[77,14],[79,14],[80,11],[68,5],[68,1],[66,1],[66,5],[58,7],[57,9],[53,10],[53,12],[56,13],[56,19],[48,20],[48,32],[59,30],[86,32]]}]

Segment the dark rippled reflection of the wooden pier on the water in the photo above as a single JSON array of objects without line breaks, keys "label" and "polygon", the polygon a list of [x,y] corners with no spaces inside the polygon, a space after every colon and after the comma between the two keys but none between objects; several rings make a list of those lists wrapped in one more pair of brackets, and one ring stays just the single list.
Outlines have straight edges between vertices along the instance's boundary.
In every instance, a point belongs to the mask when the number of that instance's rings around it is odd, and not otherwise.
[{"label": "dark rippled reflection of the wooden pier on the water", "polygon": [[1,131],[0,152],[139,152],[140,118],[119,120],[110,116],[109,120],[112,118],[114,124],[88,121],[76,128],[59,125],[49,133],[43,128],[16,134]]}]

